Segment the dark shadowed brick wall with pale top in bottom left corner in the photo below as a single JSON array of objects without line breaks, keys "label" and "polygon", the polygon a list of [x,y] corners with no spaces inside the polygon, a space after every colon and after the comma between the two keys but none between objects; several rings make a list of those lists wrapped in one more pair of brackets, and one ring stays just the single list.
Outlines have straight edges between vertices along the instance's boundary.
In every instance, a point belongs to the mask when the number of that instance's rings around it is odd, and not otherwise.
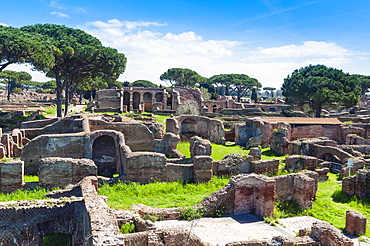
[{"label": "dark shadowed brick wall with pale top in bottom left corner", "polygon": [[70,234],[74,245],[92,245],[90,219],[83,198],[0,203],[2,245],[42,245],[43,237]]}]

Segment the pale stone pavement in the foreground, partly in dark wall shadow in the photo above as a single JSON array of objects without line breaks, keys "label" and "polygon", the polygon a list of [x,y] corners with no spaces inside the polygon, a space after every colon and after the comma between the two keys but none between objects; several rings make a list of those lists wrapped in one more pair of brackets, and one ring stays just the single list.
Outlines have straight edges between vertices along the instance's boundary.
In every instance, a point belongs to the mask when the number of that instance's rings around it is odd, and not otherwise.
[{"label": "pale stone pavement in the foreground, partly in dark wall shadow", "polygon": [[[301,216],[280,219],[280,225],[270,226],[252,214],[233,215],[221,218],[201,218],[194,221],[165,220],[155,222],[157,229],[185,228],[212,245],[253,239],[272,239],[275,236],[295,237],[299,229],[311,228],[316,218]],[[367,246],[353,238],[354,246]]]}]

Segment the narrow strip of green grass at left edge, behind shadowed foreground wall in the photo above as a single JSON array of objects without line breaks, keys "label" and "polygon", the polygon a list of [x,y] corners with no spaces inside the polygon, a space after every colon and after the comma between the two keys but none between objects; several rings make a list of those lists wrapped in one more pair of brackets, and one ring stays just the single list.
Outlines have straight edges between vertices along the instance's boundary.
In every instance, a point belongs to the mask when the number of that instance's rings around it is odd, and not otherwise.
[{"label": "narrow strip of green grass at left edge, behind shadowed foreground wall", "polygon": [[34,190],[20,189],[9,194],[0,192],[0,202],[47,199],[45,195],[49,192],[50,190],[41,187],[37,187]]}]

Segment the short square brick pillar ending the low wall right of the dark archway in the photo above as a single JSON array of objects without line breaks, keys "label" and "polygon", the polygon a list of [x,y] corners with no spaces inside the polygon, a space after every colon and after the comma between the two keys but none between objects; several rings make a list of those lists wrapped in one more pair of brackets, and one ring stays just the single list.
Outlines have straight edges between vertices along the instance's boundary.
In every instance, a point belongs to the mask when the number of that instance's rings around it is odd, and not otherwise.
[{"label": "short square brick pillar ending the low wall right of the dark archway", "polygon": [[193,157],[194,182],[202,183],[212,180],[212,157],[198,155]]}]

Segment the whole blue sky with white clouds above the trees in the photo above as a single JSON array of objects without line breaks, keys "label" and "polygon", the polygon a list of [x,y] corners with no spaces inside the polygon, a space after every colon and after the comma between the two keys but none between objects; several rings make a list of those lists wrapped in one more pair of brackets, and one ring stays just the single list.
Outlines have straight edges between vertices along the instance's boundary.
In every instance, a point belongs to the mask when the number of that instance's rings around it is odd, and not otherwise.
[{"label": "whole blue sky with white clouds above the trees", "polygon": [[162,73],[181,67],[205,77],[244,73],[279,88],[309,64],[369,75],[368,13],[368,0],[18,0],[1,3],[0,24],[83,29],[127,56],[120,81],[160,84]]}]

